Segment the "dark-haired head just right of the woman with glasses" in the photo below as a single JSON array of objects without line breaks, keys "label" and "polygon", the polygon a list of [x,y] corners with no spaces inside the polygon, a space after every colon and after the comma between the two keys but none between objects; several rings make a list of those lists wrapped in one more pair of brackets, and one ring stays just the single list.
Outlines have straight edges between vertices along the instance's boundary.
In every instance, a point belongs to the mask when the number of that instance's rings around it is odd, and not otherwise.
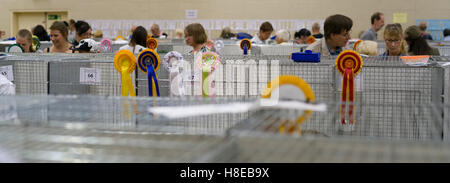
[{"label": "dark-haired head just right of the woman with glasses", "polygon": [[416,25],[409,26],[405,30],[405,40],[409,45],[408,52],[412,55],[430,55],[431,47],[422,37],[420,29]]}]

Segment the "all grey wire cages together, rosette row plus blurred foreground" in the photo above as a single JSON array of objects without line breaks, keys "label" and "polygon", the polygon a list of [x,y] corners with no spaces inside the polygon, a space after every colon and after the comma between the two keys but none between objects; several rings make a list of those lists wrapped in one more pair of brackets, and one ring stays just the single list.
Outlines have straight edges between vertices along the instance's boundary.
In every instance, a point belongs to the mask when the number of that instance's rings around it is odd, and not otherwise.
[{"label": "all grey wire cages together, rosette row plus blurred foreground", "polygon": [[[183,57],[194,62],[192,55]],[[171,83],[163,67],[157,71],[162,98],[144,97],[147,75],[139,70],[132,78],[140,97],[118,97],[120,74],[113,58],[114,54],[16,54],[0,61],[1,66],[13,66],[18,94],[1,97],[0,161],[450,161],[448,57],[432,57],[422,67],[405,65],[398,57],[363,58],[351,131],[343,130],[340,103],[334,102],[340,99],[341,76],[333,57],[294,63],[287,55],[222,54],[211,98],[196,90],[201,79],[187,79],[195,71],[186,72],[183,81],[191,92],[168,97]],[[82,67],[100,69],[101,83],[80,83]],[[183,69],[189,71],[189,66]],[[327,111],[313,112],[300,125],[296,119],[304,113],[301,110],[255,109],[179,119],[148,112],[164,106],[256,103],[270,80],[286,74],[308,82],[316,100],[326,102]],[[286,125],[296,130],[280,132]]]}]

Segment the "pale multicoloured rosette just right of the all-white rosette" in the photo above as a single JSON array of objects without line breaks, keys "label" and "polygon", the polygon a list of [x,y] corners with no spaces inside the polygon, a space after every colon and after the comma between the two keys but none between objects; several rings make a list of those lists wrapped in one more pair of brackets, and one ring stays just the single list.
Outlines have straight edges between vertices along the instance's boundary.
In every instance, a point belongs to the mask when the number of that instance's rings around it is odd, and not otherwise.
[{"label": "pale multicoloured rosette just right of the all-white rosette", "polygon": [[202,71],[202,95],[204,97],[208,97],[211,93],[214,93],[214,88],[210,82],[210,75],[219,64],[220,57],[214,52],[203,53],[201,59],[197,61],[197,66]]}]

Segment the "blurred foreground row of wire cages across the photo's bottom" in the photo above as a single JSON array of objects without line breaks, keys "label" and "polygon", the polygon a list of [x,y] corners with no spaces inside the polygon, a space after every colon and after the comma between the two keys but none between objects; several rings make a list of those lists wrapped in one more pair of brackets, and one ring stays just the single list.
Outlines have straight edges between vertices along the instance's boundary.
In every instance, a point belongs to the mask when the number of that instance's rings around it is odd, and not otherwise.
[{"label": "blurred foreground row of wire cages across the photo's bottom", "polygon": [[260,108],[168,118],[155,107],[254,103],[255,98],[0,97],[2,162],[449,162],[435,104],[360,104],[343,131],[339,104],[280,132],[300,110]]}]

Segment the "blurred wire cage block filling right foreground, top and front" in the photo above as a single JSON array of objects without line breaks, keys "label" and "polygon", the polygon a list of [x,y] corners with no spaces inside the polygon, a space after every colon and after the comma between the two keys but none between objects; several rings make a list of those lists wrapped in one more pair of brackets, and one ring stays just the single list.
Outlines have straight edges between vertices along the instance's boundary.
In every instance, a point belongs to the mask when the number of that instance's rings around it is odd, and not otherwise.
[{"label": "blurred wire cage block filling right foreground, top and front", "polygon": [[[442,109],[434,104],[355,106],[354,128],[342,125],[339,103],[298,124],[301,111],[261,111],[230,129],[227,144],[207,162],[405,163],[450,162]],[[448,110],[448,108],[446,109]],[[303,113],[304,114],[304,113]],[[295,126],[295,130],[282,131]],[[292,127],[291,126],[291,127]],[[283,128],[282,128],[283,127]]]}]

